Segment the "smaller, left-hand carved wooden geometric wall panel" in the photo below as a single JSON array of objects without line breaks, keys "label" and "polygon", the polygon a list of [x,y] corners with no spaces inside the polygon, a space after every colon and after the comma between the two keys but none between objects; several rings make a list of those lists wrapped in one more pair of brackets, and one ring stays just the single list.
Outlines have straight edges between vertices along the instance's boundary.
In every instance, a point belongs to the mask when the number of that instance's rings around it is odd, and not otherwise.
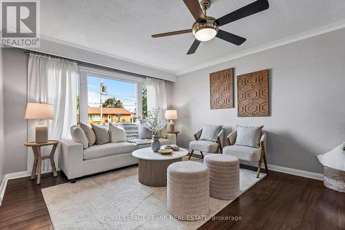
[{"label": "smaller, left-hand carved wooden geometric wall panel", "polygon": [[233,108],[233,68],[210,74],[210,109]]}]

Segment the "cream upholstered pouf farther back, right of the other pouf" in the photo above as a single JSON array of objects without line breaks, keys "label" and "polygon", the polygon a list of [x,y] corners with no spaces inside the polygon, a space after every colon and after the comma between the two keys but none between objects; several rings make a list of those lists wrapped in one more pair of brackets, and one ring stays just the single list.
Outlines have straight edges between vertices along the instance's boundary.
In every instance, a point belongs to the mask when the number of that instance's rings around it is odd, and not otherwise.
[{"label": "cream upholstered pouf farther back, right of the other pouf", "polygon": [[239,195],[239,160],[235,156],[208,154],[204,164],[210,170],[210,196],[233,200]]}]

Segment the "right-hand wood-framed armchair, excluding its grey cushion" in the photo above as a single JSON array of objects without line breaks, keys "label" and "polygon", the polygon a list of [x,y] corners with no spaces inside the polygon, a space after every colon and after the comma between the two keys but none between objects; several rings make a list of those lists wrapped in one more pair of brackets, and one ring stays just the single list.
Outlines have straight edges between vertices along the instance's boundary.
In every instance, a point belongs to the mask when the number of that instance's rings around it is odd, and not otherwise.
[{"label": "right-hand wood-framed armchair, excluding its grey cushion", "polygon": [[248,147],[242,145],[234,145],[236,142],[237,132],[232,132],[226,137],[228,146],[224,147],[224,154],[236,156],[239,160],[246,160],[248,162],[255,162],[257,166],[257,178],[259,178],[262,161],[264,160],[266,173],[268,173],[267,161],[266,161],[266,132],[262,131],[260,138],[260,147]]}]

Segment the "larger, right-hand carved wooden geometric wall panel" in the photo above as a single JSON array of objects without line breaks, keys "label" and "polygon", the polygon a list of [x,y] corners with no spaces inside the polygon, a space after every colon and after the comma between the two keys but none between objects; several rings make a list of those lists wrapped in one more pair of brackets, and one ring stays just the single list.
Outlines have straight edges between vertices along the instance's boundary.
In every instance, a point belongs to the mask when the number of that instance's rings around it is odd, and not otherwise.
[{"label": "larger, right-hand carved wooden geometric wall panel", "polygon": [[268,70],[237,76],[237,116],[269,116]]}]

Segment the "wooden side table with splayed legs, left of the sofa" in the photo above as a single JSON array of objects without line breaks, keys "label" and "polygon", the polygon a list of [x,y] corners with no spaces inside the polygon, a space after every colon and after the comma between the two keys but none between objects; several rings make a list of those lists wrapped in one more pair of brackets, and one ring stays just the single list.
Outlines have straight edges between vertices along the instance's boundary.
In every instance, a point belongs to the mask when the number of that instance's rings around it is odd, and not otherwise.
[{"label": "wooden side table with splayed legs, left of the sofa", "polygon": [[[50,163],[52,163],[52,174],[53,176],[57,176],[57,169],[55,167],[55,161],[54,161],[54,154],[55,150],[57,149],[57,145],[59,144],[59,141],[57,140],[48,140],[48,143],[25,143],[24,145],[26,147],[32,147],[32,151],[34,153],[34,166],[32,167],[32,173],[31,173],[31,179],[34,180],[34,177],[36,176],[37,171],[37,185],[41,183],[41,162],[42,160],[50,159]],[[50,152],[50,155],[48,156],[41,156],[41,147],[53,145],[52,151]]]}]

